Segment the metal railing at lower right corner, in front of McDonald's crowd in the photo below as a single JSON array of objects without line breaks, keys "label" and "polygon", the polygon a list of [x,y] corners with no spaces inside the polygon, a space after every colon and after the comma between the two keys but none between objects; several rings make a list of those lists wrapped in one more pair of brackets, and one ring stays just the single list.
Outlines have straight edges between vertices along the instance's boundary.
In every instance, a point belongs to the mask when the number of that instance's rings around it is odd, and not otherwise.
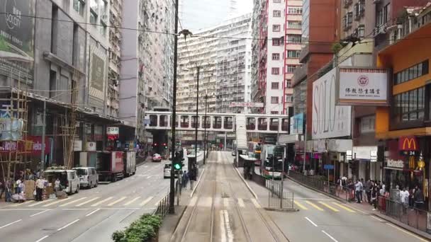
[{"label": "metal railing at lower right corner, in front of McDonald's crowd", "polygon": [[431,231],[427,231],[427,217],[431,216],[429,212],[418,209],[417,207],[411,207],[408,204],[389,200],[386,197],[379,197],[378,207],[381,214],[396,219],[415,229],[431,234]]}]

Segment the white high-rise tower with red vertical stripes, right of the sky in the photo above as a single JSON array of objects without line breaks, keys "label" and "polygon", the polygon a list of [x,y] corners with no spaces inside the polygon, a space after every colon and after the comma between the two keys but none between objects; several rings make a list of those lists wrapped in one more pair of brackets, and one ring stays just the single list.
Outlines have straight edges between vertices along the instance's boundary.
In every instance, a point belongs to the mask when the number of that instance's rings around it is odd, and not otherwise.
[{"label": "white high-rise tower with red vertical stripes, right of the sky", "polygon": [[301,50],[302,1],[254,1],[252,99],[264,103],[256,111],[287,113],[291,79]]}]

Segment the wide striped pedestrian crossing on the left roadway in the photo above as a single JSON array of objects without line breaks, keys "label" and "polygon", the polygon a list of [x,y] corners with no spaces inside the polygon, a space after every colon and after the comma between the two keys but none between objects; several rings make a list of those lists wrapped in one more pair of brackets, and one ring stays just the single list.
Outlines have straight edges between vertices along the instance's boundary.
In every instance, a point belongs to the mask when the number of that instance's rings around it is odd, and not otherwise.
[{"label": "wide striped pedestrian crossing on the left roadway", "polygon": [[81,208],[115,208],[115,207],[144,207],[151,202],[155,197],[141,196],[111,196],[111,197],[67,197],[65,199],[50,199],[35,202],[28,200],[22,203],[14,203],[2,207],[2,209],[81,209]]}]

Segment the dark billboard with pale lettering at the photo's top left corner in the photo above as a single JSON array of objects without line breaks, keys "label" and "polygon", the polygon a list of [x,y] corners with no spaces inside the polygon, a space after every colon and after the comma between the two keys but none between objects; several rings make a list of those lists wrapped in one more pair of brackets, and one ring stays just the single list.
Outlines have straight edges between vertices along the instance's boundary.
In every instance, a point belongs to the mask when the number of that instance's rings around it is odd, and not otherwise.
[{"label": "dark billboard with pale lettering at the photo's top left corner", "polygon": [[33,83],[34,0],[4,0],[0,4],[0,74]]}]

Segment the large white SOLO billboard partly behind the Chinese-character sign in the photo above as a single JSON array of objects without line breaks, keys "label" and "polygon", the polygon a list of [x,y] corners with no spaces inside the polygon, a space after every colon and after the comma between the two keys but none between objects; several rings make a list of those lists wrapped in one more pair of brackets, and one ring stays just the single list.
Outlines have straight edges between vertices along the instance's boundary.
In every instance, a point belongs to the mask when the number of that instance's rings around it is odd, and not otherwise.
[{"label": "large white SOLO billboard partly behind the Chinese-character sign", "polygon": [[326,139],[350,135],[351,106],[335,105],[337,69],[313,82],[312,138]]}]

